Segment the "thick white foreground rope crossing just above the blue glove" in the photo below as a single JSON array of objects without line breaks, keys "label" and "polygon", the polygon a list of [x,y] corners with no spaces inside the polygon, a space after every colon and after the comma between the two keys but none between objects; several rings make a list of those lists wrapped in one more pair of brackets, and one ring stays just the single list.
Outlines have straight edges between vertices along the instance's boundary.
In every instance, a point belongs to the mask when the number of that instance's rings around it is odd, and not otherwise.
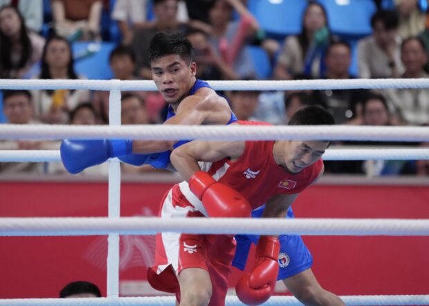
[{"label": "thick white foreground rope crossing just above the blue glove", "polygon": [[1,124],[0,139],[369,140],[429,142],[429,126],[64,126]]}]

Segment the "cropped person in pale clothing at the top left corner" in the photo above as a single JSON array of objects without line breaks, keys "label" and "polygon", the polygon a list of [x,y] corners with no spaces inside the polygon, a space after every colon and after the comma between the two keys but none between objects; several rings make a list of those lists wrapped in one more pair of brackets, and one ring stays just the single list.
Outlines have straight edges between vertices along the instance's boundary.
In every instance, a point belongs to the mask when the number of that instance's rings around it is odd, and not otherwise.
[{"label": "cropped person in pale clothing at the top left corner", "polygon": [[0,0],[0,7],[10,5],[19,10],[28,29],[33,30],[33,32],[42,30],[43,0]]}]

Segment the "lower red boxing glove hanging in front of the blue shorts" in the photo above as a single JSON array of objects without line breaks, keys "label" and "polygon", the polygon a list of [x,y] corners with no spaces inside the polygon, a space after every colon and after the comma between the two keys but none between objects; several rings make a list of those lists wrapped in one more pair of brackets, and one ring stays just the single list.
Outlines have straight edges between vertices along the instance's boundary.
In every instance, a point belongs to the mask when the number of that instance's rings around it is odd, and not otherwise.
[{"label": "lower red boxing glove hanging in front of the blue shorts", "polygon": [[246,305],[259,305],[273,295],[279,273],[280,242],[273,236],[261,236],[257,242],[255,265],[250,274],[241,276],[235,291]]}]

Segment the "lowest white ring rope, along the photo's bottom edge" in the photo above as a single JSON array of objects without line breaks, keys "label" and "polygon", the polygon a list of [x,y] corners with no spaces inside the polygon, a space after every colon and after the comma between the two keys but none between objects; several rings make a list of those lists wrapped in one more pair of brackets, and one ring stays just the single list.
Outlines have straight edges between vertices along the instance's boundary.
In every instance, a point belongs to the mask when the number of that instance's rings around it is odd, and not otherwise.
[{"label": "lowest white ring rope, along the photo's bottom edge", "polygon": [[[340,296],[349,306],[364,305],[429,305],[429,295],[392,296]],[[0,300],[0,305],[8,306],[173,306],[172,296],[133,298],[20,298]],[[227,296],[226,306],[243,306],[237,296]],[[271,296],[262,306],[302,306],[293,296]]]}]

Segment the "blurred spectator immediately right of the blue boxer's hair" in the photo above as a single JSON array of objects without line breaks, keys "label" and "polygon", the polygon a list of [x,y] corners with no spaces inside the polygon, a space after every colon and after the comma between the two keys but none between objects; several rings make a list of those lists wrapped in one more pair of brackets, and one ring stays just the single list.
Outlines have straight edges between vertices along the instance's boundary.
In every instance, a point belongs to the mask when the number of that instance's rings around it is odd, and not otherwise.
[{"label": "blurred spectator immediately right of the blue boxer's hair", "polygon": [[194,47],[194,61],[197,63],[197,79],[238,79],[234,69],[215,51],[209,35],[203,30],[190,29],[186,38]]}]

